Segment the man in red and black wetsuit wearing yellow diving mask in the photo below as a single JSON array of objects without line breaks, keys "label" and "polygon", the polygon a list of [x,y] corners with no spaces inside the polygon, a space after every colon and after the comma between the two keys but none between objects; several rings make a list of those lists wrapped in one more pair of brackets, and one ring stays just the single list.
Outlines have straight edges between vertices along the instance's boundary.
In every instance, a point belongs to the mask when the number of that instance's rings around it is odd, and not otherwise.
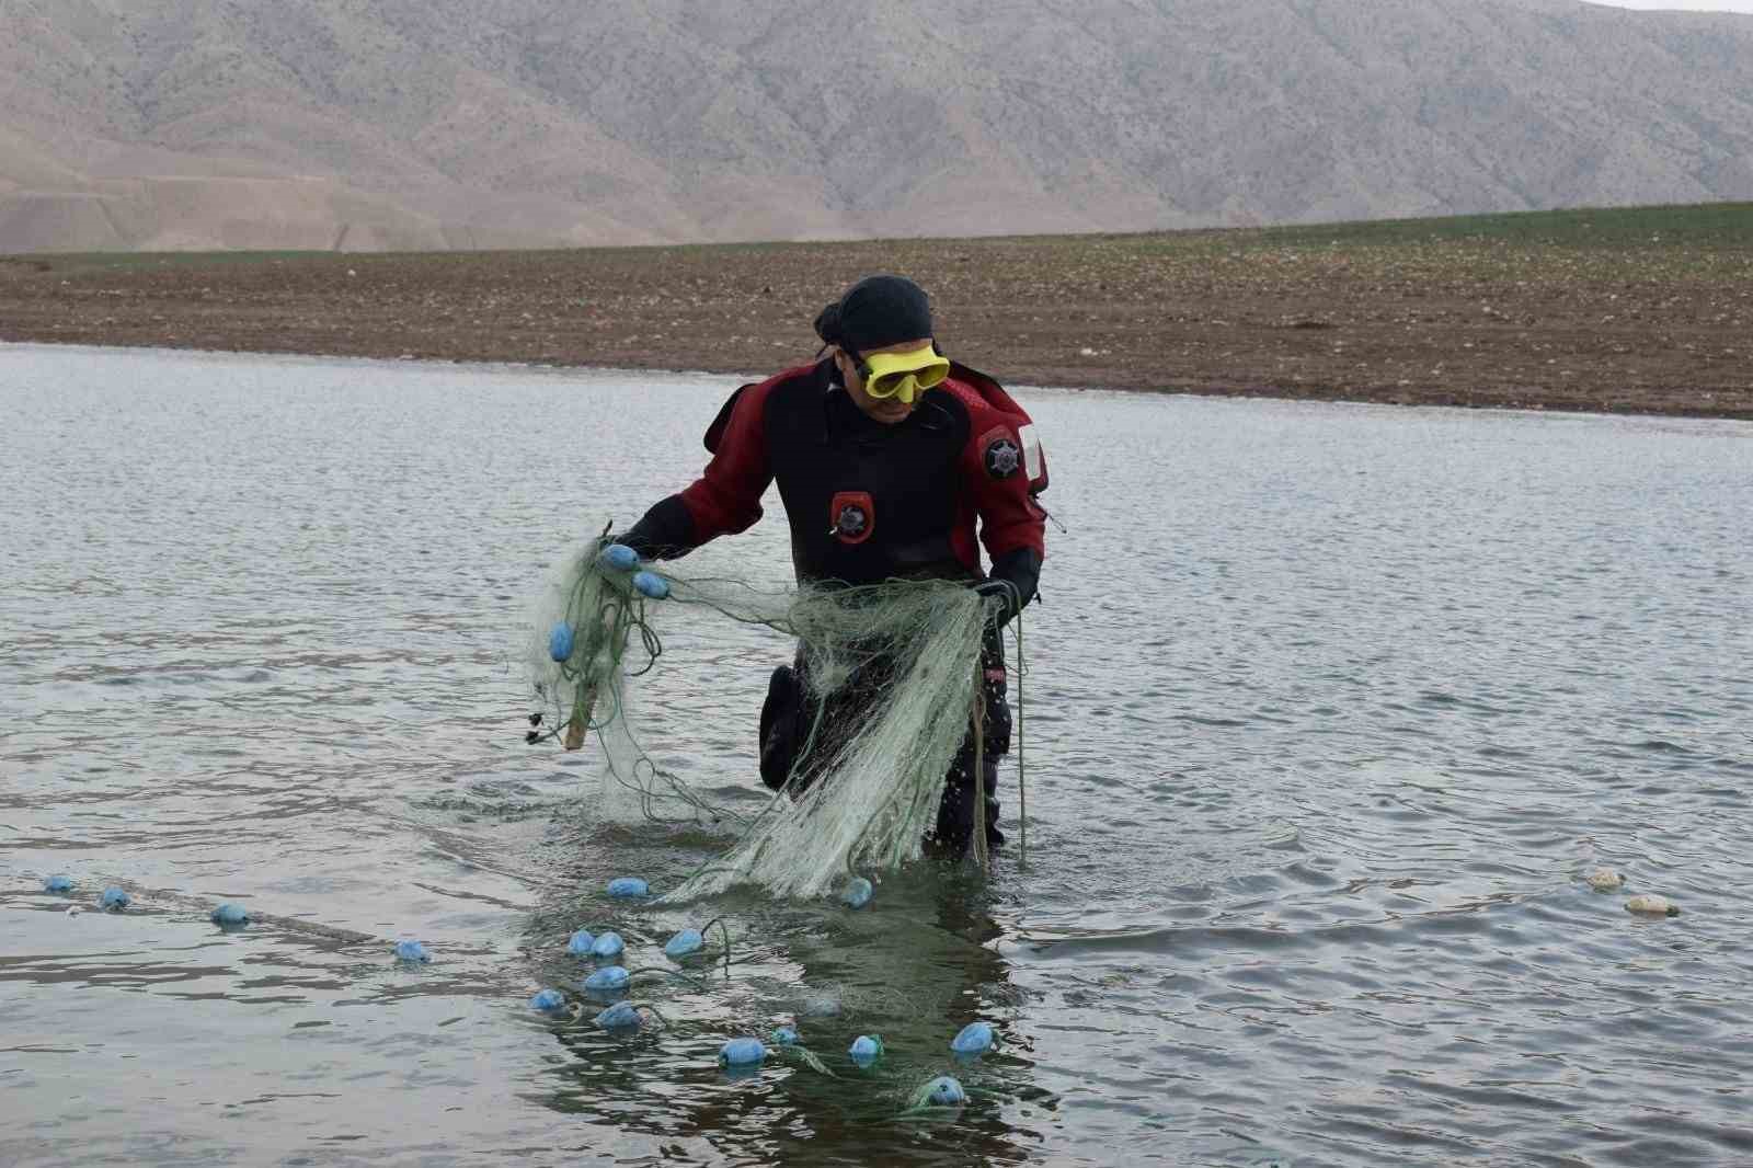
[{"label": "man in red and black wetsuit wearing yellow diving mask", "polygon": [[[997,756],[1010,749],[999,630],[1036,595],[1045,547],[1047,463],[1029,416],[985,374],[945,360],[917,284],[873,275],[815,319],[826,356],[743,386],[706,430],[712,461],[654,505],[621,542],[642,558],[684,556],[761,517],[778,482],[801,582],[968,580],[987,596],[982,652],[985,823],[997,831]],[[980,542],[992,559],[980,570]],[[880,698],[876,698],[880,700]],[[841,710],[845,716],[845,710]],[[833,726],[833,712],[824,714]],[[803,682],[773,673],[761,710],[761,779],[778,789],[806,737]],[[950,768],[933,851],[973,837],[973,735]],[[806,782],[806,775],[792,779]]]}]

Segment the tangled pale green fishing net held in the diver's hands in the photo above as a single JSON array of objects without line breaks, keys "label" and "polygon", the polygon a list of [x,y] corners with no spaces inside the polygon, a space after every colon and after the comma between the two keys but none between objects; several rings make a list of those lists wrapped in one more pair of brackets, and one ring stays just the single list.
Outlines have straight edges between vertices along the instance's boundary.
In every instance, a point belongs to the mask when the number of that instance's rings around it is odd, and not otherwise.
[{"label": "tangled pale green fishing net held in the diver's hands", "polygon": [[[670,605],[798,640],[798,749],[785,786],[757,815],[715,807],[638,744],[631,687],[663,652]],[[650,819],[738,823],[731,849],[670,900],[735,884],[819,894],[859,870],[920,856],[945,775],[975,723],[983,621],[980,596],[945,580],[757,589],[657,572],[624,547],[591,544],[561,566],[531,624],[542,712],[528,737],[571,749],[594,737],[612,780]],[[983,844],[983,831],[975,835]]]}]

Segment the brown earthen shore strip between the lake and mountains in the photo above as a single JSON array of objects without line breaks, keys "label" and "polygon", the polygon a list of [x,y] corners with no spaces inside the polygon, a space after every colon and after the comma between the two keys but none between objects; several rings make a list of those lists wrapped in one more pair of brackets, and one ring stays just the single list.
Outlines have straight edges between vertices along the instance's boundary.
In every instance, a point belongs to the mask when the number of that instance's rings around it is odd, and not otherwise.
[{"label": "brown earthen shore strip between the lake and mountains", "polygon": [[[810,360],[822,303],[891,270],[931,291],[948,353],[1011,384],[1753,419],[1753,207],[1709,209],[1709,231],[1685,230],[1688,210],[1706,209],[543,253],[12,256],[0,258],[0,340],[743,374]],[[1655,228],[1632,217],[1657,214]]]}]

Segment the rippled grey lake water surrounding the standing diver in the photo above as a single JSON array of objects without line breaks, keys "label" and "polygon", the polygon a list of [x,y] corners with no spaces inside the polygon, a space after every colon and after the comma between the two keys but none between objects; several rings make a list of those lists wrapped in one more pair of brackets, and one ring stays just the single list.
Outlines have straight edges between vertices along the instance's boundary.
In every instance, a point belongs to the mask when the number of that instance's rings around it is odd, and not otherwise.
[{"label": "rippled grey lake water surrounding the standing diver", "polygon": [[[0,345],[0,1163],[1753,1163],[1741,423],[1024,393],[1029,866],[1011,789],[987,880],[740,894],[663,1026],[535,1014],[705,915],[603,894],[712,840],[524,745],[521,638],[731,384]],[[666,616],[647,740],[754,801],[789,645]],[[717,1068],[792,1021],[831,1075]]]}]

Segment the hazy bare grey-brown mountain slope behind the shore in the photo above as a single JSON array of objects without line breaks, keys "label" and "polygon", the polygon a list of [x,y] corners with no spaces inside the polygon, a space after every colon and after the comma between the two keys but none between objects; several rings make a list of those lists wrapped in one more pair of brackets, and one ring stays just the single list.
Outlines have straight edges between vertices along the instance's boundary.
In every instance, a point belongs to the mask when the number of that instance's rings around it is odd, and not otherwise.
[{"label": "hazy bare grey-brown mountain slope behind the shore", "polygon": [[0,0],[0,251],[1753,198],[1753,18],[1569,0]]}]

